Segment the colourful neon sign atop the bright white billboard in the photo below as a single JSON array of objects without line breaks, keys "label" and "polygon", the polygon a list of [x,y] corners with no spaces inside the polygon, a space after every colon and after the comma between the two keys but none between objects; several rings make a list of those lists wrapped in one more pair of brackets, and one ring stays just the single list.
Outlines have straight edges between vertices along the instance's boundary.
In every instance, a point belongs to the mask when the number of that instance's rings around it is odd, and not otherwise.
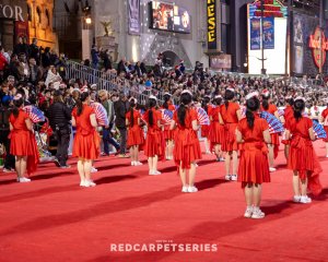
[{"label": "colourful neon sign atop the bright white billboard", "polygon": [[[261,1],[255,1],[249,4],[249,17],[261,17]],[[263,1],[263,16],[265,17],[286,17],[288,9],[283,7],[278,0]]]}]

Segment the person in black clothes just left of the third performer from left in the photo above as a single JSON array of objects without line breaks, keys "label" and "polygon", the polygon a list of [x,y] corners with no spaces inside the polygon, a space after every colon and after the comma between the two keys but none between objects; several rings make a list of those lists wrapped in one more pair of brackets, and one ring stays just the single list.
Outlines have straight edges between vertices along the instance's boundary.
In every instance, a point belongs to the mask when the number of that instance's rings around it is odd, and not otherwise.
[{"label": "person in black clothes just left of the third performer from left", "polygon": [[114,103],[115,110],[115,124],[120,132],[120,154],[119,157],[126,156],[127,147],[127,126],[126,126],[126,114],[128,111],[128,100],[124,93],[119,94],[119,99]]}]

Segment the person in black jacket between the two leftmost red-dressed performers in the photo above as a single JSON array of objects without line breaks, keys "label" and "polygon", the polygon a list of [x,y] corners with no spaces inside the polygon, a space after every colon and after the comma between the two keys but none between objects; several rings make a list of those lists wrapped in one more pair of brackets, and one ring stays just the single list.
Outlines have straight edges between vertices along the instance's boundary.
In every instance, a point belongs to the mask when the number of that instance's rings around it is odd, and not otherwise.
[{"label": "person in black jacket between the two leftmost red-dressed performers", "polygon": [[71,110],[63,103],[61,91],[54,94],[54,104],[48,109],[50,127],[58,141],[56,157],[61,168],[68,168],[68,147],[71,133]]}]

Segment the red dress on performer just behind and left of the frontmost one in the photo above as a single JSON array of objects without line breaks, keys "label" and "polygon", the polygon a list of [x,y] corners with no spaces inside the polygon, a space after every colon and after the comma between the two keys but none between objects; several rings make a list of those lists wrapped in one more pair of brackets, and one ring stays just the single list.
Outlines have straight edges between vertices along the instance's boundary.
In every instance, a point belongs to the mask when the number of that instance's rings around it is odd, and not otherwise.
[{"label": "red dress on performer just behind and left of the frontmost one", "polygon": [[241,107],[237,103],[230,102],[227,108],[225,105],[220,107],[221,117],[224,122],[224,143],[222,144],[222,151],[232,152],[237,151],[238,145],[236,141],[236,128],[238,124],[237,110]]}]

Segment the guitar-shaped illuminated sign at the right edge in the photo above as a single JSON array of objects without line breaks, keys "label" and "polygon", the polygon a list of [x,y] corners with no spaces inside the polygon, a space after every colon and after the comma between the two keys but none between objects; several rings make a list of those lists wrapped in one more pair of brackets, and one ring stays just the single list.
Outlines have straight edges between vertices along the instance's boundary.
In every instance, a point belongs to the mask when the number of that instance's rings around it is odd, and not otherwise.
[{"label": "guitar-shaped illuminated sign at the right edge", "polygon": [[313,59],[318,68],[321,68],[326,61],[326,51],[328,51],[328,39],[324,31],[319,27],[309,36],[308,47],[312,49]]}]

